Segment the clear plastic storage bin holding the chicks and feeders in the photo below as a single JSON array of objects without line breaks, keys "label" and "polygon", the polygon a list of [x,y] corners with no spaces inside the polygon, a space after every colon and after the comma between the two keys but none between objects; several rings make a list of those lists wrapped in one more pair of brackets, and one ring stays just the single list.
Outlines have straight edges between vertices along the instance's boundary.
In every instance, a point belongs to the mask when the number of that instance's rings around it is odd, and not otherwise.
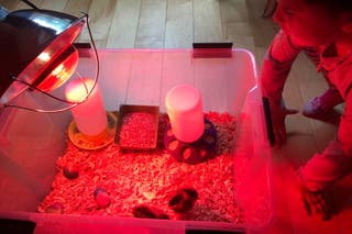
[{"label": "clear plastic storage bin holding the chicks and feeders", "polygon": [[[228,53],[228,52],[227,52]],[[230,53],[231,54],[231,53]],[[37,213],[51,189],[55,160],[65,154],[70,112],[43,114],[16,109],[0,112],[0,218],[36,223],[34,233],[185,233],[186,230],[261,232],[273,219],[271,153],[253,55],[232,49],[231,57],[193,57],[193,49],[99,51],[99,86],[108,111],[120,104],[160,105],[176,85],[200,90],[204,111],[237,116],[235,200],[244,223],[165,221],[114,216]],[[92,69],[85,63],[80,70]],[[19,102],[31,102],[23,93]],[[37,101],[37,100],[34,100]]]}]

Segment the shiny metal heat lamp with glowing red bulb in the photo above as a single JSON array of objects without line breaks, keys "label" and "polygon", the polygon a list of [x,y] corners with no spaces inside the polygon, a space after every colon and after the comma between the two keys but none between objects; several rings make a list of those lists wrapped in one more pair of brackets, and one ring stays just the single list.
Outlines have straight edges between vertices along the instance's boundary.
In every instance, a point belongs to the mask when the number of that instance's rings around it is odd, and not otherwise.
[{"label": "shiny metal heat lamp with glowing red bulb", "polygon": [[86,21],[87,15],[40,9],[13,11],[0,21],[1,108],[28,89],[52,96],[72,77],[79,58],[74,41]]}]

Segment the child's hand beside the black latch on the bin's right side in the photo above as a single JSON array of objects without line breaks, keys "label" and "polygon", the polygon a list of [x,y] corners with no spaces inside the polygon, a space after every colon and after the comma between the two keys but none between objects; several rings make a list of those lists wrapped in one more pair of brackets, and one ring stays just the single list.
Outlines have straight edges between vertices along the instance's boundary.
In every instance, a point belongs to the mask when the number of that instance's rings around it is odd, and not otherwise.
[{"label": "child's hand beside the black latch on the bin's right side", "polygon": [[286,141],[285,119],[287,114],[296,114],[298,110],[287,109],[284,101],[280,103],[270,103],[271,115],[273,122],[273,131],[275,135],[275,147],[280,147]]}]

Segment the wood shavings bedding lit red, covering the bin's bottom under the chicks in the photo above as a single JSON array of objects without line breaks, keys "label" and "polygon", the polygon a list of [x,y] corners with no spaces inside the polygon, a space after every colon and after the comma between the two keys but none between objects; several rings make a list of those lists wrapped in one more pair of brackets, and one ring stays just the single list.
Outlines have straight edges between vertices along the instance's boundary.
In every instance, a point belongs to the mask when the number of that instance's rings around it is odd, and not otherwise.
[{"label": "wood shavings bedding lit red, covering the bin's bottom under the chicks", "polygon": [[[190,165],[176,161],[166,153],[163,134],[167,115],[160,114],[158,144],[153,151],[122,151],[111,144],[101,151],[81,151],[68,142],[66,154],[56,161],[57,175],[52,190],[38,204],[45,212],[51,204],[62,204],[61,213],[82,215],[133,216],[133,209],[147,205],[170,219],[218,221],[242,224],[243,210],[235,200],[237,178],[232,146],[235,142],[235,118],[229,113],[208,112],[206,118],[217,130],[216,157]],[[74,164],[79,172],[68,179],[63,170]],[[103,189],[110,198],[106,208],[95,201],[94,191]],[[169,209],[168,202],[182,188],[198,192],[191,211],[182,218]]]}]

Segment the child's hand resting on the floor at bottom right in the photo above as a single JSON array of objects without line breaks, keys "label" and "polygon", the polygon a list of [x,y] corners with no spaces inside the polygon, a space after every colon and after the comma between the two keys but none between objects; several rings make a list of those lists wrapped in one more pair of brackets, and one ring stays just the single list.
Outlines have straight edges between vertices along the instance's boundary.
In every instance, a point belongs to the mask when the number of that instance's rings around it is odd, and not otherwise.
[{"label": "child's hand resting on the floor at bottom right", "polygon": [[305,188],[300,189],[301,200],[308,215],[314,213],[321,215],[322,220],[331,219],[331,197],[327,190],[309,191]]}]

